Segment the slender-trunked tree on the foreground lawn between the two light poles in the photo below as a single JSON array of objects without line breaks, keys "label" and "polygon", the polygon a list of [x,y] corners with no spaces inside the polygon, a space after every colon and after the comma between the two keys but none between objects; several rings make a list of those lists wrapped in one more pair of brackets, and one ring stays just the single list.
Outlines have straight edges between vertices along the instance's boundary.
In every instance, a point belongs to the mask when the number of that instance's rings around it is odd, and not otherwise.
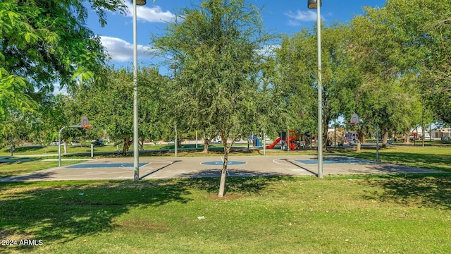
[{"label": "slender-trunked tree on the foreground lawn between the two light poles", "polygon": [[171,56],[179,69],[173,117],[191,128],[217,130],[221,136],[220,197],[225,191],[231,145],[243,126],[254,121],[250,116],[257,107],[259,50],[270,38],[259,10],[244,0],[209,0],[184,8],[178,20],[168,24],[165,35],[152,37],[154,47]]}]

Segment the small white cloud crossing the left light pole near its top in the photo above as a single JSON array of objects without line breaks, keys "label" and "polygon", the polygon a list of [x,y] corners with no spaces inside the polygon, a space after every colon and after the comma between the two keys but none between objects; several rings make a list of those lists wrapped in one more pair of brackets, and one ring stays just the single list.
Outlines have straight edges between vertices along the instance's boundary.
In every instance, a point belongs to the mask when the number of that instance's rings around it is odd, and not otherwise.
[{"label": "small white cloud crossing the left light pole near its top", "polygon": [[[127,16],[133,17],[133,4],[126,2],[128,13]],[[171,11],[163,11],[160,6],[149,8],[147,6],[136,6],[137,20],[144,20],[151,23],[172,22],[175,15]]]}]

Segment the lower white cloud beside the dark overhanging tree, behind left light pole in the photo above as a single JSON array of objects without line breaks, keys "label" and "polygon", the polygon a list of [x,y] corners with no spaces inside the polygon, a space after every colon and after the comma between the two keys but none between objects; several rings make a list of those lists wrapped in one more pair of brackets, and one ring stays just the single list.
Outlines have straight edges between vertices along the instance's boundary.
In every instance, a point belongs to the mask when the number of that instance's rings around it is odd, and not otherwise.
[{"label": "lower white cloud beside the dark overhanging tree, behind left light pole", "polygon": [[[133,44],[121,38],[101,36],[101,44],[106,47],[106,51],[113,61],[133,61]],[[137,45],[138,61],[152,59],[149,47]]]}]

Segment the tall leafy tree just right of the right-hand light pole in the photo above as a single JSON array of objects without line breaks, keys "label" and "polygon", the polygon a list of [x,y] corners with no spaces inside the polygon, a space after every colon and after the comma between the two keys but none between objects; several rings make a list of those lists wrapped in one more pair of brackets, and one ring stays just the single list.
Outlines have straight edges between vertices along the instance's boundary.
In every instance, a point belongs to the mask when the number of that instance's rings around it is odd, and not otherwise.
[{"label": "tall leafy tree just right of the right-hand light pole", "polygon": [[[351,22],[349,52],[362,73],[357,88],[356,111],[364,121],[374,123],[387,145],[390,132],[407,131],[421,116],[421,59],[428,50],[419,47],[424,37],[413,32],[412,23],[398,16],[407,3],[384,8],[367,8],[365,16]],[[371,120],[369,120],[371,119]]]}]

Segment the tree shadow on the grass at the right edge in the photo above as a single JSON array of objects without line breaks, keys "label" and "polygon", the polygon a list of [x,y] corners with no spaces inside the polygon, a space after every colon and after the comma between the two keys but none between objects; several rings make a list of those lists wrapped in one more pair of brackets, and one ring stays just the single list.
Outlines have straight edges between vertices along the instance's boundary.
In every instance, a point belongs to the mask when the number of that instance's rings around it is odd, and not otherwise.
[{"label": "tree shadow on the grass at the right edge", "polygon": [[364,198],[381,202],[397,202],[406,206],[451,209],[449,174],[384,175],[366,179],[366,184],[383,188]]}]

